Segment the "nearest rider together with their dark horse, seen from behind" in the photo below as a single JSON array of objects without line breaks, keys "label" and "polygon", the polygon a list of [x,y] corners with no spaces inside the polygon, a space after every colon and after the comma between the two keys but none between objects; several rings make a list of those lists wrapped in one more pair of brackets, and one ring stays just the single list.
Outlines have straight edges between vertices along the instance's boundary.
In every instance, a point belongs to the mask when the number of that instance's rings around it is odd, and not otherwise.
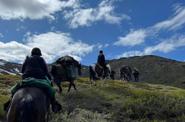
[{"label": "nearest rider together with their dark horse, seen from behind", "polygon": [[12,99],[4,104],[8,122],[47,122],[50,104],[53,112],[61,110],[41,55],[39,48],[33,48],[23,63],[23,80],[12,88]]}]

